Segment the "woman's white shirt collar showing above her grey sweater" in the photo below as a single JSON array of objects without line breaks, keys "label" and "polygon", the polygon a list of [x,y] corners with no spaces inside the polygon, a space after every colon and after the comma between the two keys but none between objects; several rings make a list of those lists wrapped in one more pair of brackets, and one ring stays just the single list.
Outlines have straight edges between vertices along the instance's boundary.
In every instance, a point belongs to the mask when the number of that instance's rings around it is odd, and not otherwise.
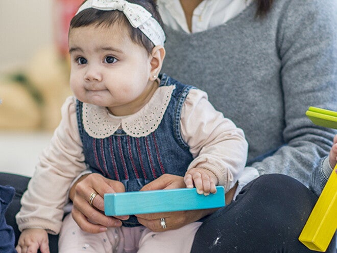
[{"label": "woman's white shirt collar showing above her grey sweater", "polygon": [[237,16],[252,0],[204,0],[193,12],[189,31],[179,0],[158,0],[158,9],[164,24],[177,31],[198,33],[223,25]]}]

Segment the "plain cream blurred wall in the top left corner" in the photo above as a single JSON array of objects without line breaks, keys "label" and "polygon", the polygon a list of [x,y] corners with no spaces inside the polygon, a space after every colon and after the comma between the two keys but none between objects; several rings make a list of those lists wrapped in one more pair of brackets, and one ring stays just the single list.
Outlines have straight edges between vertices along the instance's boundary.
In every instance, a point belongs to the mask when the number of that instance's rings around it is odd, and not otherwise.
[{"label": "plain cream blurred wall in the top left corner", "polygon": [[0,0],[0,70],[53,42],[53,0]]}]

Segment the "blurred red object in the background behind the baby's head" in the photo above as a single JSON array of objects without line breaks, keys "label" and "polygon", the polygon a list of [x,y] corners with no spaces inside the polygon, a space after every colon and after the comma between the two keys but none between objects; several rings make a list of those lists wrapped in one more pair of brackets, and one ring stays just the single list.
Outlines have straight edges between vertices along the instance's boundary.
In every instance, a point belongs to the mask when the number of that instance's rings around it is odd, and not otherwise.
[{"label": "blurred red object in the background behind the baby's head", "polygon": [[54,0],[54,39],[62,56],[66,57],[69,51],[68,30],[70,20],[75,16],[83,2],[83,0]]}]

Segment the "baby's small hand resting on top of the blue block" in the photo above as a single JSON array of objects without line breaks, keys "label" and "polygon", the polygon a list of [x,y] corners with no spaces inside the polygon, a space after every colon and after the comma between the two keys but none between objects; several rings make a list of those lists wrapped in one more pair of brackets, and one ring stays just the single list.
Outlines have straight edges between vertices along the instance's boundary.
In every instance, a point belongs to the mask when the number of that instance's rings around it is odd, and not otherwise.
[{"label": "baby's small hand resting on top of the blue block", "polygon": [[218,183],[218,178],[210,170],[193,168],[186,172],[184,182],[187,188],[195,186],[199,194],[207,196],[209,193],[216,193],[215,185]]}]

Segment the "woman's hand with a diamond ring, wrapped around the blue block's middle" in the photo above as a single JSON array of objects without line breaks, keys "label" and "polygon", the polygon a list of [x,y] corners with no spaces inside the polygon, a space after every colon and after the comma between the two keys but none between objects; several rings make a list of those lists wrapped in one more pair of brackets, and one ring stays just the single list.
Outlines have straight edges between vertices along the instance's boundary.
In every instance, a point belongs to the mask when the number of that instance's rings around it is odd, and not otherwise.
[{"label": "woman's hand with a diamond ring, wrapped around the blue block's middle", "polygon": [[[181,176],[164,174],[154,181],[144,186],[141,191],[163,190],[163,189],[177,189],[186,188],[184,178]],[[162,232],[167,229],[177,229],[191,222],[197,221],[202,217],[215,212],[218,209],[203,209],[203,210],[190,210],[179,212],[167,213],[154,213],[154,214],[139,214],[136,215],[138,221],[143,226],[148,227],[151,231]],[[160,218],[165,218],[166,228],[160,224]]]}]

